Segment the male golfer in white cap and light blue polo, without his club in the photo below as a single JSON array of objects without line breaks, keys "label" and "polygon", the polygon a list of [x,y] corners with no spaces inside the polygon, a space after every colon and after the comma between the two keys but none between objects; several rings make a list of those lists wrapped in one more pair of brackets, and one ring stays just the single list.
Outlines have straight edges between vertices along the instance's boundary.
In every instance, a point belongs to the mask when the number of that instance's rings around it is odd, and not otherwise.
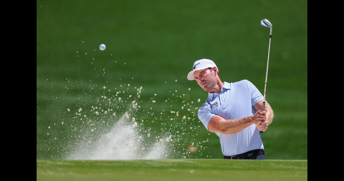
[{"label": "male golfer in white cap and light blue polo, without his club", "polygon": [[225,159],[266,159],[259,131],[268,129],[273,111],[248,80],[222,82],[212,60],[197,60],[187,79],[196,80],[208,92],[198,118],[208,131],[220,138]]}]

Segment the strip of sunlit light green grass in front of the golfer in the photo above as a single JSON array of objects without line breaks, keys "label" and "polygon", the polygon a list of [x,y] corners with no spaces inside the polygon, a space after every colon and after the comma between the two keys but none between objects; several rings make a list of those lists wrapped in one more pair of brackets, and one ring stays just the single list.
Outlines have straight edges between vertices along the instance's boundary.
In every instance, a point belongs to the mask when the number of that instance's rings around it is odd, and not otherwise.
[{"label": "strip of sunlit light green grass in front of the golfer", "polygon": [[37,160],[39,180],[307,180],[307,160]]}]

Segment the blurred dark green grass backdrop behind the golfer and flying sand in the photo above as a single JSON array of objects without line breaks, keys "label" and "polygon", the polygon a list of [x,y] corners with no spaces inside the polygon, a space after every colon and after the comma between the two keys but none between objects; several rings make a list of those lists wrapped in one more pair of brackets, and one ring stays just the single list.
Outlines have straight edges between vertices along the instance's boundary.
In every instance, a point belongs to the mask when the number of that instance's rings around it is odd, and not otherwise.
[{"label": "blurred dark green grass backdrop behind the golfer and flying sand", "polygon": [[[113,103],[118,115],[136,100],[136,117],[155,120],[145,126],[158,131],[172,122],[172,131],[189,135],[176,149],[202,143],[188,158],[223,158],[219,138],[197,118],[207,92],[186,76],[194,61],[207,58],[222,81],[247,79],[264,93],[270,32],[260,25],[264,18],[273,25],[266,99],[275,113],[262,135],[266,157],[307,159],[305,0],[37,0],[37,159],[66,158],[77,139],[71,130],[83,127],[75,112],[118,90],[126,98]],[[138,98],[135,87],[141,86]]]}]

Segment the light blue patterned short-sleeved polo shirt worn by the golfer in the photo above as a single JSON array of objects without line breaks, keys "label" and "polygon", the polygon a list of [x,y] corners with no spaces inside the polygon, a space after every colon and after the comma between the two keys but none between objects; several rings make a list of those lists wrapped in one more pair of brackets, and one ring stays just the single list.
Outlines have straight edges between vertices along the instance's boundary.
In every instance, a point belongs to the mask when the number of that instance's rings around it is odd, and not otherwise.
[{"label": "light blue patterned short-sleeved polo shirt worn by the golfer", "polygon": [[[208,129],[214,115],[225,120],[241,119],[256,113],[253,105],[264,99],[258,89],[248,80],[224,82],[221,93],[209,93],[208,99],[198,111],[198,118]],[[256,124],[234,134],[215,133],[220,138],[222,153],[232,156],[255,149],[264,149]]]}]

